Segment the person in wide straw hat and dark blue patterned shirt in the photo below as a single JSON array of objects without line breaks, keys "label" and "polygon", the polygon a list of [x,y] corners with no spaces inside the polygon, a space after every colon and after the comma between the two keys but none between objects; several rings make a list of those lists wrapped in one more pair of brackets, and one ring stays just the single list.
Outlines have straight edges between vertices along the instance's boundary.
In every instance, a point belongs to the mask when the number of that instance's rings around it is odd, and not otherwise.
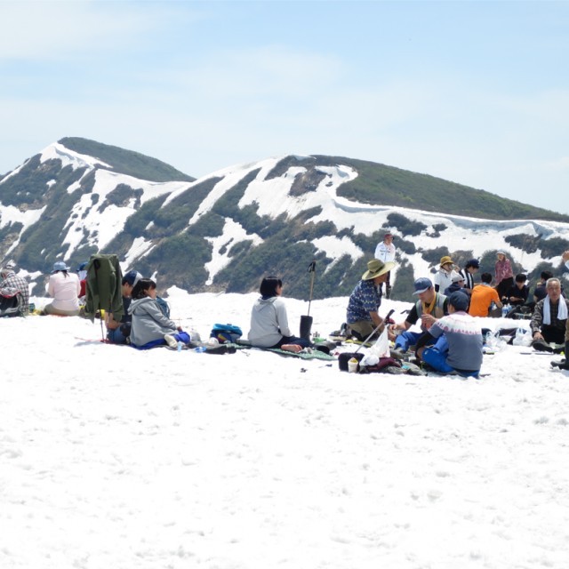
[{"label": "person in wide straw hat and dark blue patterned shirt", "polygon": [[367,263],[367,270],[352,291],[346,314],[348,334],[356,333],[365,340],[373,331],[383,324],[383,318],[378,314],[381,306],[381,283],[385,283],[389,271],[395,263],[384,263],[373,259]]}]

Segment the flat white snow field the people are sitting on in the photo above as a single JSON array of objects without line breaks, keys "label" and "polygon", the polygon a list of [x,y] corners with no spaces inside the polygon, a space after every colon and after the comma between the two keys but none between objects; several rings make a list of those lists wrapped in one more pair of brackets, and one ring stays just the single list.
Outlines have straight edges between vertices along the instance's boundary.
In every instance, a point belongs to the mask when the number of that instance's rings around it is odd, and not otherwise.
[{"label": "flat white snow field the people are sitting on", "polygon": [[[168,300],[204,337],[246,333],[255,296]],[[297,330],[307,303],[286,303]],[[313,301],[313,331],[346,304]],[[569,377],[552,357],[508,347],[478,381],[359,376],[76,340],[100,338],[79,318],[2,323],[2,567],[567,566]]]}]

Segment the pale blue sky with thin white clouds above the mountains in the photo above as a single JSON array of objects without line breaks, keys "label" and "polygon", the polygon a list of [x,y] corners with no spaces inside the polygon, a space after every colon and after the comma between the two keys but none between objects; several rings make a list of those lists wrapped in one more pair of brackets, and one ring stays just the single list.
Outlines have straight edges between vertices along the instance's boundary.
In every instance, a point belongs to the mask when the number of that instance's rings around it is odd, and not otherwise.
[{"label": "pale blue sky with thin white clouds above the mountains", "polygon": [[568,2],[0,2],[0,21],[0,172],[82,136],[196,177],[350,156],[569,213]]}]

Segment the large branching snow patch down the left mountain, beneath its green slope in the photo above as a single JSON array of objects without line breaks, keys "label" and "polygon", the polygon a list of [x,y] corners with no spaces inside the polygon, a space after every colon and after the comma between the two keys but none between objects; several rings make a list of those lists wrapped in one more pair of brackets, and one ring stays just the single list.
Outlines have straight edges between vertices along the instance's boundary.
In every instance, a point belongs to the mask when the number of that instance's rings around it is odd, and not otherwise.
[{"label": "large branching snow patch down the left mountain, beneath its green slope", "polygon": [[[139,180],[126,174],[108,172],[108,170],[97,170],[92,193],[84,194],[79,198],[65,225],[65,228],[68,228],[68,233],[63,239],[62,245],[68,243],[69,248],[64,260],[71,257],[79,244],[84,242],[84,237],[86,237],[86,244],[94,245],[100,250],[124,229],[124,223],[136,211],[134,199],[124,207],[110,204],[103,212],[99,211],[100,204],[119,184],[124,184],[133,189],[141,189],[140,204],[144,204],[153,197],[188,187],[188,182],[183,181],[154,182]],[[97,204],[93,205],[92,196],[99,196]]]}]

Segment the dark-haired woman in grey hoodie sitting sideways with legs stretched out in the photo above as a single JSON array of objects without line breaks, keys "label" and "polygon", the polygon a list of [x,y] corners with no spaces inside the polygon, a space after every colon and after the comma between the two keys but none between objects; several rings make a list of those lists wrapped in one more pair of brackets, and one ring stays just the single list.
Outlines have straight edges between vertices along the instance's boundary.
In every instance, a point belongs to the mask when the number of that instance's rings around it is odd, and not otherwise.
[{"label": "dark-haired woman in grey hoodie sitting sideways with legs stretched out", "polygon": [[164,316],[156,302],[156,283],[149,278],[141,278],[132,289],[132,302],[128,314],[132,316],[131,345],[138,349],[150,349],[167,344],[176,349],[178,342],[188,344],[191,340],[187,332]]}]

